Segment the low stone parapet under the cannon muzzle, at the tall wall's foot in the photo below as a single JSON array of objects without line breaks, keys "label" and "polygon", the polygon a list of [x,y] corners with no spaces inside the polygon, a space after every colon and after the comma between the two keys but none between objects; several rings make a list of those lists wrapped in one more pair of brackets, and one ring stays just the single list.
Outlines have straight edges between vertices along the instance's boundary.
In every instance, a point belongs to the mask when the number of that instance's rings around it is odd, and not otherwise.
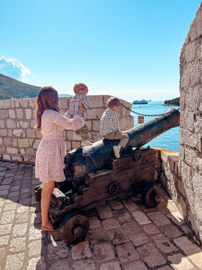
[{"label": "low stone parapet under the cannon muzzle, at the tall wall's foot", "polygon": [[[190,175],[187,176],[185,180],[184,174],[180,174],[180,160],[179,153],[174,151],[169,151],[161,148],[156,149],[156,171],[155,180],[160,180],[163,188],[166,190],[170,198],[172,198],[179,212],[176,212],[175,223],[181,225],[181,221],[186,221],[187,225],[190,227],[190,231],[201,241],[202,237],[200,234],[200,220],[196,218],[196,213],[193,211],[196,209],[196,196],[194,190],[190,197],[189,185],[187,181],[191,181]],[[188,165],[187,165],[188,166]],[[187,173],[191,173],[191,168]],[[201,192],[201,190],[200,190]],[[199,194],[200,195],[200,194]],[[198,208],[197,208],[198,209]],[[200,208],[200,211],[202,209]],[[169,216],[168,216],[169,217]]]}]

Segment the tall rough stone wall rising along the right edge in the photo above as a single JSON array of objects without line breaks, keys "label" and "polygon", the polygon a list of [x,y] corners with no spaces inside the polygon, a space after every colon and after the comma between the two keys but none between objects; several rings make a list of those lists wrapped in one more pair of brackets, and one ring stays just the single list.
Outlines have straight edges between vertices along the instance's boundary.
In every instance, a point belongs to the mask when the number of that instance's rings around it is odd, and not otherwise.
[{"label": "tall rough stone wall rising along the right edge", "polygon": [[179,171],[194,233],[202,239],[202,2],[180,55]]}]

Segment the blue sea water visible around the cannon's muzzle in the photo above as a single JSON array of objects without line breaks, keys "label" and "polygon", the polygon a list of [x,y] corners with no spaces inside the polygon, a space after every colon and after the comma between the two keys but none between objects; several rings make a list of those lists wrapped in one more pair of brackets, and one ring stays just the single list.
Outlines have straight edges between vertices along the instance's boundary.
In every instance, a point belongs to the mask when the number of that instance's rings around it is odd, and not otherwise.
[{"label": "blue sea water visible around the cannon's muzzle", "polygon": [[[165,113],[165,111],[169,108],[179,108],[179,106],[161,106],[162,104],[164,104],[164,101],[149,101],[148,104],[133,104],[131,110],[141,114],[160,114]],[[134,117],[134,127],[141,125],[138,124],[137,114],[131,112],[130,115]],[[144,116],[144,123],[153,118],[155,118],[155,116]],[[160,147],[163,149],[179,152],[179,141],[180,127],[174,127],[151,140],[149,143],[145,144],[144,147],[149,145],[150,147]]]}]

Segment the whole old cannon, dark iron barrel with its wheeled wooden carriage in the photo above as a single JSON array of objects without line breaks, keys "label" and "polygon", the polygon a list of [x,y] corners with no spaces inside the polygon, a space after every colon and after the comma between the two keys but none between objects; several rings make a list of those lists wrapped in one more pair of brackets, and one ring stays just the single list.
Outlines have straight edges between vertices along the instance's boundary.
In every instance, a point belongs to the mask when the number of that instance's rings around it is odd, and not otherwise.
[{"label": "whole old cannon, dark iron barrel with its wheeled wooden carriage", "polygon": [[[89,221],[83,212],[107,199],[141,193],[142,201],[149,207],[161,201],[162,191],[154,184],[156,150],[141,146],[179,126],[179,111],[168,109],[166,112],[169,114],[125,131],[129,140],[119,159],[113,154],[113,146],[119,140],[103,139],[67,153],[66,180],[55,182],[50,210],[51,225],[53,229],[60,228],[66,242],[85,238]],[[42,187],[43,184],[35,188],[36,201],[41,199]]]}]

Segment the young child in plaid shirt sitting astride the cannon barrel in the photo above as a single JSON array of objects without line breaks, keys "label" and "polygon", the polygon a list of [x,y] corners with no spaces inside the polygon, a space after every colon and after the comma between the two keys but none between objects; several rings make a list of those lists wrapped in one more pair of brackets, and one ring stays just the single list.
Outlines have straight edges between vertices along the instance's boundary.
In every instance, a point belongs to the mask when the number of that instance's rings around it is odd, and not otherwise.
[{"label": "young child in plaid shirt sitting astride the cannon barrel", "polygon": [[103,113],[100,119],[100,133],[108,140],[120,140],[118,146],[114,145],[113,150],[116,158],[120,157],[121,147],[125,147],[129,136],[121,131],[117,110],[121,107],[121,102],[117,97],[110,97],[107,100],[108,109]]}]

